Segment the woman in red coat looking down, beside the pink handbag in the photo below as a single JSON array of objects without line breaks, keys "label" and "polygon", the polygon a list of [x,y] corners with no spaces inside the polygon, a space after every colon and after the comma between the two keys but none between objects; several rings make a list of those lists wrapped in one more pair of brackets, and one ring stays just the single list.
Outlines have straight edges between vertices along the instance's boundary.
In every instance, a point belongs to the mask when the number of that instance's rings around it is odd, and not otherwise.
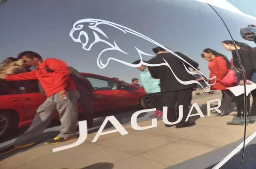
[{"label": "woman in red coat looking down, beside the pink handbag", "polygon": [[215,84],[211,86],[211,90],[221,90],[222,92],[222,100],[221,100],[221,109],[222,112],[217,116],[224,116],[230,113],[230,104],[233,99],[233,93],[227,89],[227,86],[221,84],[221,79],[224,78],[227,74],[227,70],[229,68],[229,61],[226,56],[210,49],[204,49],[204,53],[202,57],[209,62],[209,70],[210,70],[210,79],[216,76],[216,79],[210,80],[210,84]]}]

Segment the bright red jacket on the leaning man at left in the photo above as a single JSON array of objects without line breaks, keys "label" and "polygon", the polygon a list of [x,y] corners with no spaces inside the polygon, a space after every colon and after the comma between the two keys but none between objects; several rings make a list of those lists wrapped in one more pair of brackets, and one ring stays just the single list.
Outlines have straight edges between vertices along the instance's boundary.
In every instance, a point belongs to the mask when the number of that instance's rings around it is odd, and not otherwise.
[{"label": "bright red jacket on the leaning man at left", "polygon": [[[46,67],[53,70],[48,72]],[[59,59],[48,58],[38,65],[38,68],[31,72],[9,75],[6,81],[32,80],[38,79],[44,88],[47,97],[62,90],[76,90],[76,85],[70,77],[70,70],[67,64]]]}]

